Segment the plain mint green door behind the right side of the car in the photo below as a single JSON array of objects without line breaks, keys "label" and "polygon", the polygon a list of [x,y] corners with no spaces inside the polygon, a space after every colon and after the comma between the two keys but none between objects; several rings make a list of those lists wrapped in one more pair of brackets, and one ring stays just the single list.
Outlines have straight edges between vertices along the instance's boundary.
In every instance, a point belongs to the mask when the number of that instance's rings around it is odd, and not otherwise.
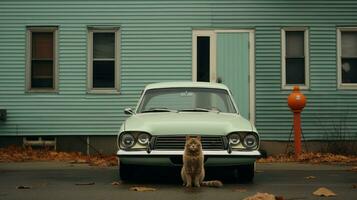
[{"label": "plain mint green door behind the right side of the car", "polygon": [[249,119],[249,33],[217,34],[217,77],[227,85],[239,108]]}]

